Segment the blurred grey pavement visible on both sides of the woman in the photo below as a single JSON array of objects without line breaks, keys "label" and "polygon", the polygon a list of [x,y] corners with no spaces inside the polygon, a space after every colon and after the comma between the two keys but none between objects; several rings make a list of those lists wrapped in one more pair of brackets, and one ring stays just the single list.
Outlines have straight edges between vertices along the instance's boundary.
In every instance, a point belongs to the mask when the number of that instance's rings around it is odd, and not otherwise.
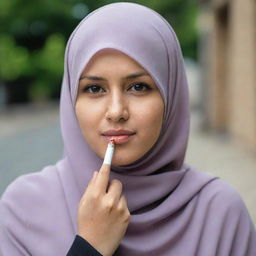
[{"label": "blurred grey pavement visible on both sides of the woman", "polygon": [[[38,171],[60,158],[58,123],[57,103],[0,110],[0,195],[15,177]],[[199,124],[200,114],[193,111],[186,163],[232,184],[256,224],[255,154],[224,136],[200,131]]]}]

